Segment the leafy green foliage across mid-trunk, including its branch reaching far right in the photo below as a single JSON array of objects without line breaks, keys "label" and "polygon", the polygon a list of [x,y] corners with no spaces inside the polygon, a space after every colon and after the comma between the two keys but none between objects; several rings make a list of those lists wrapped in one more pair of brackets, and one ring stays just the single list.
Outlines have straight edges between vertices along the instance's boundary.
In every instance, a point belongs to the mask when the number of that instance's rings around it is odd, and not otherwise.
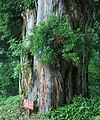
[{"label": "leafy green foliage across mid-trunk, including its branch reaching far right", "polygon": [[73,30],[66,16],[51,16],[46,22],[33,28],[30,52],[43,62],[57,63],[59,59],[72,61],[79,65],[83,52],[91,58],[93,48],[98,41],[98,34],[92,28],[82,33]]}]

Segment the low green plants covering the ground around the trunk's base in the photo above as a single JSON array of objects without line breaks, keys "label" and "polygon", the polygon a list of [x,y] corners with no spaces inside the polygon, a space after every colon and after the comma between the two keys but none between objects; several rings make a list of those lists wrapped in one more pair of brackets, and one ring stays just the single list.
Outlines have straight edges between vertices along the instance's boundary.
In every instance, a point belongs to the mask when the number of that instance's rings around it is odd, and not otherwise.
[{"label": "low green plants covering the ground around the trunk's base", "polygon": [[33,112],[30,118],[19,96],[0,97],[0,120],[100,120],[100,90],[92,86],[90,92],[89,99],[74,97],[70,105],[49,111],[42,117]]}]

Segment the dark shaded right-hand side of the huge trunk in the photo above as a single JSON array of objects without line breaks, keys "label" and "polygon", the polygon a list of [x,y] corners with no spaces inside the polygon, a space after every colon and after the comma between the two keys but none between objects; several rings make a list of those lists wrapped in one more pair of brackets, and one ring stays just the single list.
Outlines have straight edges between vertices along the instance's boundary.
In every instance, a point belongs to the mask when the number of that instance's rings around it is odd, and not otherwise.
[{"label": "dark shaded right-hand side of the huge trunk", "polygon": [[[66,12],[74,29],[80,28],[82,32],[92,26],[93,22],[93,2],[92,0],[64,0]],[[88,59],[87,53],[80,56],[81,68],[73,67],[73,93],[88,96]],[[75,75],[76,74],[76,75]]]}]

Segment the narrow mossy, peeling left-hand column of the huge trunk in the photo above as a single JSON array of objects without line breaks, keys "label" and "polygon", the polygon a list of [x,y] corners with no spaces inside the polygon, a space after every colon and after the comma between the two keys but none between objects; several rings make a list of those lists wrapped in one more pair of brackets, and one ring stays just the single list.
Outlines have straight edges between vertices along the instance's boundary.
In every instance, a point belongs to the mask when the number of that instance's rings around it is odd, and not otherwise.
[{"label": "narrow mossy, peeling left-hand column of the huge trunk", "polygon": [[[22,27],[22,36],[23,39],[27,39],[27,36],[31,34],[31,29],[36,20],[36,11],[27,10],[22,13],[23,17],[23,27]],[[24,46],[25,49],[28,49],[30,43],[25,40]],[[20,56],[20,63],[23,68],[22,73],[19,77],[19,92],[21,97],[29,97],[34,100],[33,97],[33,56],[29,51],[22,50],[22,55]],[[35,88],[34,88],[35,89]]]}]

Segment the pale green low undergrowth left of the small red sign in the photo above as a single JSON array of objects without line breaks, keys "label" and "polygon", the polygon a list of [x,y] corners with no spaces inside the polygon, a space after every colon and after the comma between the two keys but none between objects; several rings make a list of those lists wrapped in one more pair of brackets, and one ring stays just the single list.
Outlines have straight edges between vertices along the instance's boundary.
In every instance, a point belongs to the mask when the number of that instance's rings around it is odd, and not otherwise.
[{"label": "pale green low undergrowth left of the small red sign", "polygon": [[16,120],[20,115],[18,96],[0,97],[0,120]]}]

